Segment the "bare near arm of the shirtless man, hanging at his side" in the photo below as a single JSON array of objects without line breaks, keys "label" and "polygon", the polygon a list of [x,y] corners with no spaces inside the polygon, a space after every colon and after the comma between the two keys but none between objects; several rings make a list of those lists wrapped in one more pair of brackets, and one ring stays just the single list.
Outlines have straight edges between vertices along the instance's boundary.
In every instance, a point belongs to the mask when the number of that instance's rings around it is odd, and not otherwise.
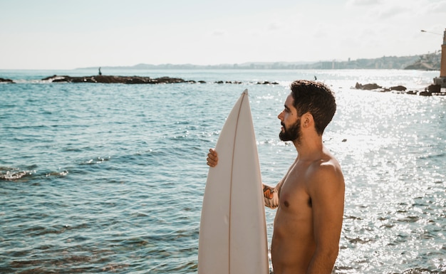
[{"label": "bare near arm of the shirtless man, hanging at his side", "polygon": [[332,272],[339,252],[345,184],[341,169],[333,164],[321,164],[311,174],[309,182],[316,251],[307,274],[328,274]]}]

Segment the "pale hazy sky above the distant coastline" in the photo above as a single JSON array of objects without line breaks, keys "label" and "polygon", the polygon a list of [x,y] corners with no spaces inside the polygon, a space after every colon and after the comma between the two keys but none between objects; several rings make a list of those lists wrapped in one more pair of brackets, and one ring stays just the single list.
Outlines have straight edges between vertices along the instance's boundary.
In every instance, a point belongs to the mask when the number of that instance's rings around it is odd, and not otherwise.
[{"label": "pale hazy sky above the distant coastline", "polygon": [[0,0],[0,69],[413,56],[445,28],[446,0]]}]

